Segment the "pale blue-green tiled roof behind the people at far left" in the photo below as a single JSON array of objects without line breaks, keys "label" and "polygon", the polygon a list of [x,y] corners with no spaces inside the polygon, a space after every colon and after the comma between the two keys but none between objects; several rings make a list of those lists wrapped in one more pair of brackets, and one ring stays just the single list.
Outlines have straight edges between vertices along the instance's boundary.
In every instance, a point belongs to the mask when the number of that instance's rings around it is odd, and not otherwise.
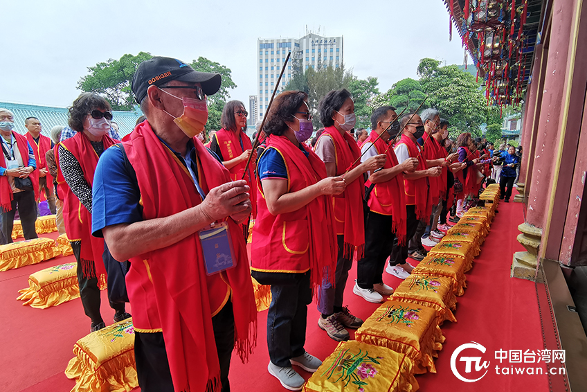
[{"label": "pale blue-green tiled roof behind the people at far left", "polygon": [[[42,134],[51,137],[51,128],[55,125],[67,125],[69,118],[66,107],[50,107],[38,105],[23,105],[21,103],[0,102],[0,107],[10,110],[15,114],[15,130],[20,134],[26,134],[24,120],[28,117],[37,117],[43,126]],[[112,118],[118,124],[118,134],[120,137],[129,134],[134,130],[136,120],[142,115],[141,110],[136,108],[136,112],[113,111]]]}]

